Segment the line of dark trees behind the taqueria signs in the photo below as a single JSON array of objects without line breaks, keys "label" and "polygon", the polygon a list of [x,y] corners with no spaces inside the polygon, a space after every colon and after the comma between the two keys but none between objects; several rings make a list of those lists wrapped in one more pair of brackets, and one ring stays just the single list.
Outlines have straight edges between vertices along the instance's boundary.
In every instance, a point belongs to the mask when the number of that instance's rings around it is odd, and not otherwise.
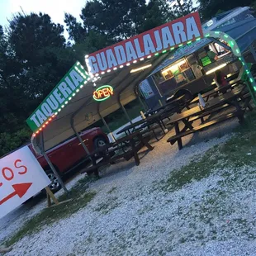
[{"label": "line of dark trees behind the taqueria signs", "polygon": [[[0,25],[0,156],[26,143],[31,130],[26,118],[47,96],[76,60],[135,36],[155,26],[196,11],[192,0],[91,0],[84,1],[80,21],[64,14],[64,26],[48,14],[18,12],[6,28]],[[244,0],[243,5],[249,5]],[[206,20],[238,1],[199,0]]]}]

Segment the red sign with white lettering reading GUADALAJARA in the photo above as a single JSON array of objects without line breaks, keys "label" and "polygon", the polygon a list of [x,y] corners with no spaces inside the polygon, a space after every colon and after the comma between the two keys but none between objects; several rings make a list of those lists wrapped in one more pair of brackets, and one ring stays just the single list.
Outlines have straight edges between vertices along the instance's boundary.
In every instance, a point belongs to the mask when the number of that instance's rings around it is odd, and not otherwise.
[{"label": "red sign with white lettering reading GUADALAJARA", "polygon": [[187,41],[202,37],[198,12],[193,12],[175,21],[158,26],[138,36],[123,40],[86,57],[88,71],[93,74],[110,72],[117,67],[137,62]]}]

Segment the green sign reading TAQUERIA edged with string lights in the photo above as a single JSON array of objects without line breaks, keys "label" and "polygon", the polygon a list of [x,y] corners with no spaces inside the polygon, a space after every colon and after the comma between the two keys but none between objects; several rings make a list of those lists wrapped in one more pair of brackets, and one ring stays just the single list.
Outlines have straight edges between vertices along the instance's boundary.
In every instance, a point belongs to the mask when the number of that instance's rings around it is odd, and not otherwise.
[{"label": "green sign reading TAQUERIA edged with string lights", "polygon": [[83,88],[83,84],[88,79],[88,73],[79,62],[76,62],[50,94],[45,97],[45,100],[41,102],[40,106],[26,120],[31,130],[39,133],[39,130],[42,129],[41,126],[44,127],[47,125],[68,104],[75,93],[79,92],[80,88]]}]

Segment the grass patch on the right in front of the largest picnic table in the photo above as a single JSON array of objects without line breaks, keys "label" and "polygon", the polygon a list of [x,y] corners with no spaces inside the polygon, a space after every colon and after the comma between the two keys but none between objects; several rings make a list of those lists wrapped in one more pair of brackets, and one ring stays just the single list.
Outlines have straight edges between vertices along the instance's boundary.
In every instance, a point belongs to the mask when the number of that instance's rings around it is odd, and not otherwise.
[{"label": "grass patch on the right in front of the largest picnic table", "polygon": [[[209,177],[217,168],[240,168],[255,166],[256,155],[256,111],[250,112],[242,126],[235,129],[235,135],[223,145],[216,145],[198,155],[190,164],[173,170],[162,185],[164,190],[175,191],[192,181]],[[161,186],[160,186],[161,187]]]}]

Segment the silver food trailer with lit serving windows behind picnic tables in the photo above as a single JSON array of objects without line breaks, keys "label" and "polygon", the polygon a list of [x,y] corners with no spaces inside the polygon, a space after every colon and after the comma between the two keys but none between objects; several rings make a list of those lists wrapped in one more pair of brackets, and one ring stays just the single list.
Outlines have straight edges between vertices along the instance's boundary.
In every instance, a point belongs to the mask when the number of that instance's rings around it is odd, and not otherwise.
[{"label": "silver food trailer with lit serving windows behind picnic tables", "polygon": [[[219,29],[232,35],[244,54],[249,45],[254,43],[251,33],[254,33],[255,26],[256,19],[249,17]],[[206,37],[179,47],[140,83],[140,94],[145,98],[147,106],[151,109],[159,107],[159,104],[164,104],[168,97],[179,90],[185,89],[192,95],[206,91],[211,86],[217,69],[229,74],[230,79],[241,75],[239,70],[242,64],[228,50],[231,46],[224,40]],[[255,62],[251,57],[246,61]]]}]

